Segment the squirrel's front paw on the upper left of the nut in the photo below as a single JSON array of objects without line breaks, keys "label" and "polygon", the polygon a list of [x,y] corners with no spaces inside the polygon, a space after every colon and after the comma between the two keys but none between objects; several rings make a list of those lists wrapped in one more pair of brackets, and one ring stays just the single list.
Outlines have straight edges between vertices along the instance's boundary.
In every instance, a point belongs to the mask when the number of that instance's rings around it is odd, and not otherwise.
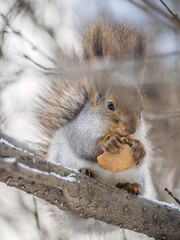
[{"label": "squirrel's front paw on the upper left of the nut", "polygon": [[109,134],[100,142],[100,148],[103,152],[119,153],[123,145],[118,135]]}]

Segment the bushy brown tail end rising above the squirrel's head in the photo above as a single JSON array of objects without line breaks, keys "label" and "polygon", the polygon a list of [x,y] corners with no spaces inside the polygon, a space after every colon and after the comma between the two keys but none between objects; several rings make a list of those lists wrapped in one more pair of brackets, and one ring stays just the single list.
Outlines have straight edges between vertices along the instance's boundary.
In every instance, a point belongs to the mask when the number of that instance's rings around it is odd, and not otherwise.
[{"label": "bushy brown tail end rising above the squirrel's head", "polygon": [[145,41],[139,29],[131,25],[108,25],[99,21],[83,36],[84,60],[105,58],[122,60],[144,57]]}]

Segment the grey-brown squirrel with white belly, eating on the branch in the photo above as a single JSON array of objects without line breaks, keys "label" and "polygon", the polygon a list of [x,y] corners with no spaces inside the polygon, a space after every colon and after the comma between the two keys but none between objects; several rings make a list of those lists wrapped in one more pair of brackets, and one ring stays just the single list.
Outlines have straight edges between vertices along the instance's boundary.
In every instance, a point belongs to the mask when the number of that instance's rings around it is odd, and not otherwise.
[{"label": "grey-brown squirrel with white belly, eating on the branch", "polygon": [[[149,196],[151,147],[146,137],[143,101],[138,86],[145,61],[143,34],[130,25],[110,26],[98,21],[83,34],[82,46],[79,64],[95,63],[98,59],[106,63],[118,61],[120,70],[104,71],[93,77],[82,74],[49,84],[39,111],[40,126],[47,140],[43,146],[47,158],[102,183],[124,188],[135,195],[141,192]],[[141,59],[137,69],[134,65],[124,64],[129,58],[134,62]],[[101,140],[109,134],[102,143]],[[134,145],[136,160],[142,152],[144,155],[146,152],[146,156],[139,165],[124,172],[111,173],[98,166],[97,157],[104,150],[120,151],[121,136],[131,136],[143,143],[144,149],[139,149],[136,143]],[[121,239],[123,236],[121,229],[93,219],[82,220],[61,210],[56,216],[59,216],[62,239]],[[127,231],[130,236],[128,234]]]}]

